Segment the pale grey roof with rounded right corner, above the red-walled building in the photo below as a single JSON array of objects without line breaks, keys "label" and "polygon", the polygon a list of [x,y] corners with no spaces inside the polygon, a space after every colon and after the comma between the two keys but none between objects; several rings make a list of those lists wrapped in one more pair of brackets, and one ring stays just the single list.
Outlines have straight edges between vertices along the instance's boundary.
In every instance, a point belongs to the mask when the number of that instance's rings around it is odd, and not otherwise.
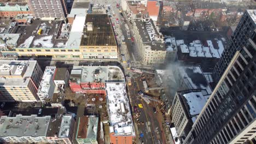
[{"label": "pale grey roof with rounded right corner, above the red-walled building", "polygon": [[78,83],[123,81],[124,74],[115,66],[74,66],[69,80]]}]

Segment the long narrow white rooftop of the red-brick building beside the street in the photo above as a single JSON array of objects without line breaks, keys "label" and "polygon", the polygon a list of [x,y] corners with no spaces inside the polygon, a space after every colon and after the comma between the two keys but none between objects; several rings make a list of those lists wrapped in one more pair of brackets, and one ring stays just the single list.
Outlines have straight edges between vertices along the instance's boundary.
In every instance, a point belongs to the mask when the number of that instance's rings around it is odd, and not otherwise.
[{"label": "long narrow white rooftop of the red-brick building beside the street", "polygon": [[125,83],[106,83],[110,133],[135,136]]}]

